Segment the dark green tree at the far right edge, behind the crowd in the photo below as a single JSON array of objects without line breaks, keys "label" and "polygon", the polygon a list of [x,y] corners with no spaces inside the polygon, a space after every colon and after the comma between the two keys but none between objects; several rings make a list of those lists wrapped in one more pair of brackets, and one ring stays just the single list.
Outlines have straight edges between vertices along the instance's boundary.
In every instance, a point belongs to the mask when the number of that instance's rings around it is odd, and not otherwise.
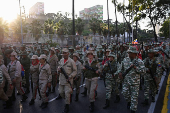
[{"label": "dark green tree at the far right edge, behind the crowd", "polygon": [[169,37],[169,29],[170,29],[169,24],[170,24],[170,20],[168,20],[168,19],[166,21],[164,21],[164,23],[162,24],[162,27],[160,29],[160,32],[161,32],[160,36],[161,37],[165,37],[165,38]]}]

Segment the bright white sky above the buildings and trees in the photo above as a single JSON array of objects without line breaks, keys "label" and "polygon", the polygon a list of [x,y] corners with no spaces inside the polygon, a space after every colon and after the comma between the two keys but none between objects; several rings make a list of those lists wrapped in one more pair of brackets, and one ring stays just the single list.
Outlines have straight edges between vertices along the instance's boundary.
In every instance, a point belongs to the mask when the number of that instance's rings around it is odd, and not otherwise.
[{"label": "bright white sky above the buildings and trees", "polygon": [[[21,6],[25,7],[25,13],[29,14],[29,9],[37,2],[44,2],[45,13],[57,13],[61,11],[72,13],[72,0],[20,0]],[[75,2],[75,14],[79,16],[79,11],[84,8],[89,8],[95,5],[103,5],[103,19],[107,19],[107,0],[74,0]],[[123,2],[123,0],[118,0]],[[128,4],[128,0],[125,0],[125,4]],[[19,14],[19,0],[0,0],[0,17],[3,17],[8,22],[11,22]],[[23,11],[23,9],[22,9]],[[109,18],[115,21],[114,4],[112,0],[109,0]],[[118,21],[123,22],[122,14],[118,13]],[[144,22],[144,21],[143,21]],[[146,22],[140,22],[142,29],[146,28]]]}]

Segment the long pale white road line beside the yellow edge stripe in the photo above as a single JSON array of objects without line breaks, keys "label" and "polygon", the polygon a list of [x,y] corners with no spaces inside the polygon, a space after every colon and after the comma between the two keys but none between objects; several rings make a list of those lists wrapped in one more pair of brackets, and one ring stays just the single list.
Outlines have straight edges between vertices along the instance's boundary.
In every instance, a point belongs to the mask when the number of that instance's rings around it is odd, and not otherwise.
[{"label": "long pale white road line beside the yellow edge stripe", "polygon": [[164,79],[165,79],[165,75],[166,75],[166,73],[164,72],[164,74],[162,75],[162,78],[161,78],[161,82],[159,83],[159,85],[160,85],[160,87],[159,87],[159,89],[158,89],[159,92],[158,92],[158,94],[155,96],[155,102],[152,102],[152,103],[151,103],[151,105],[150,105],[150,107],[149,107],[149,109],[148,109],[148,113],[153,113],[154,110],[155,110],[156,102],[157,102],[157,100],[158,100],[159,93],[160,93],[160,91],[161,91],[162,84],[163,84]]}]

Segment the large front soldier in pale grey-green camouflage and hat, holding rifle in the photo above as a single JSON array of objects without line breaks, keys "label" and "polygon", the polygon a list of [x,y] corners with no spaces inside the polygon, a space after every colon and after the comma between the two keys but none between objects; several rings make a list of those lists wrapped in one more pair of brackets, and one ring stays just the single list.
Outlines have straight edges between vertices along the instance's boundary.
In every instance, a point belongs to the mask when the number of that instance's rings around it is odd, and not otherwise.
[{"label": "large front soldier in pale grey-green camouflage and hat, holding rifle", "polygon": [[138,105],[140,74],[145,73],[145,66],[143,61],[137,57],[136,47],[130,46],[127,52],[129,57],[123,59],[115,75],[119,73],[119,77],[123,79],[122,73],[131,68],[124,76],[122,94],[128,102],[127,108],[131,109],[131,113],[135,113]]}]

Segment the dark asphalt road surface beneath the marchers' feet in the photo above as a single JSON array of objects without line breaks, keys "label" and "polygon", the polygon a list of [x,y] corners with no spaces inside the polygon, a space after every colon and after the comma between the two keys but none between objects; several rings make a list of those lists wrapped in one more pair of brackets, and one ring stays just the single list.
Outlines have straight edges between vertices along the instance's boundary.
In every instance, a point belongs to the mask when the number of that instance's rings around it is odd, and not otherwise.
[{"label": "dark asphalt road surface beneath the marchers' feet", "polygon": [[[160,92],[160,96],[158,97],[158,101],[156,104],[155,113],[161,113],[162,104],[163,104],[163,97],[166,87],[167,78],[164,79],[163,86]],[[56,88],[57,89],[57,88]],[[144,89],[144,88],[143,88]],[[81,92],[83,91],[83,87],[81,87]],[[121,100],[119,103],[114,103],[115,94],[112,94],[110,107],[107,109],[103,109],[105,104],[105,87],[103,85],[103,80],[98,81],[98,98],[95,101],[95,111],[94,113],[130,113],[130,110],[127,110],[127,102],[123,98],[122,94],[120,94]],[[54,100],[49,102],[48,107],[45,109],[41,109],[39,106],[41,104],[41,100],[39,100],[39,96],[37,95],[37,99],[35,100],[35,104],[29,106],[29,101],[31,100],[32,93],[28,94],[29,97],[26,102],[21,103],[21,96],[16,96],[16,101],[13,102],[13,106],[10,109],[3,109],[3,101],[0,101],[0,113],[62,113],[64,109],[64,99],[61,100]],[[55,98],[58,95],[58,91],[55,93],[51,93],[49,95],[49,100]],[[75,91],[73,94],[73,102],[70,105],[70,112],[69,113],[89,113],[89,99],[87,97],[82,97],[79,95],[79,101],[74,101]],[[138,110],[136,113],[147,113],[150,105],[143,106],[141,102],[144,100],[144,93],[143,90],[139,91],[139,101],[138,101]],[[149,100],[151,103],[151,98]]]}]

